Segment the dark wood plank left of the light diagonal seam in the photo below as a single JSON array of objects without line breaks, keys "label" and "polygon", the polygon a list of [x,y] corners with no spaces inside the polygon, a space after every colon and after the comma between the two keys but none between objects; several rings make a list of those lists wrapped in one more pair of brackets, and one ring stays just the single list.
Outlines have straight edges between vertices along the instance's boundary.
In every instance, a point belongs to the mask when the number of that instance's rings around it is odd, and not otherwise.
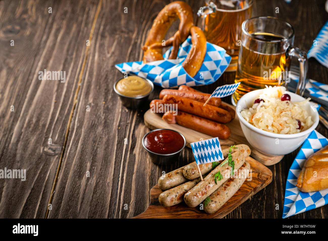
[{"label": "dark wood plank left of the light diagonal seam", "polygon": [[[45,217],[96,3],[0,2],[0,167],[27,174],[0,179],[0,218]],[[44,69],[66,82],[39,80]]]}]

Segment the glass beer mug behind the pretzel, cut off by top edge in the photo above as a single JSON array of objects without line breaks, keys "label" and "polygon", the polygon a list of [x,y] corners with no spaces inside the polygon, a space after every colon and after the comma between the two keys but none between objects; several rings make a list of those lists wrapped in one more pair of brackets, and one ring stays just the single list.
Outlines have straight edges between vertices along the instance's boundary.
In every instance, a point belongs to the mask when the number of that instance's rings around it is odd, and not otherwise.
[{"label": "glass beer mug behind the pretzel, cut off by top edge", "polygon": [[253,0],[205,0],[205,6],[197,12],[196,25],[204,31],[206,40],[232,57],[226,71],[237,69],[241,24],[251,17],[252,7]]}]

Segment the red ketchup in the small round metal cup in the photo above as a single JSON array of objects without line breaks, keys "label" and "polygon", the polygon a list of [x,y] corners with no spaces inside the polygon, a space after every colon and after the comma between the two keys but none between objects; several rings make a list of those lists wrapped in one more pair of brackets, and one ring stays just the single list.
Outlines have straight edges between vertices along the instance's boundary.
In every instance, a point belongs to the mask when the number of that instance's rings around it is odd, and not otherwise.
[{"label": "red ketchup in the small round metal cup", "polygon": [[146,135],[144,145],[149,151],[157,154],[171,154],[183,147],[184,139],[175,131],[158,130]]}]

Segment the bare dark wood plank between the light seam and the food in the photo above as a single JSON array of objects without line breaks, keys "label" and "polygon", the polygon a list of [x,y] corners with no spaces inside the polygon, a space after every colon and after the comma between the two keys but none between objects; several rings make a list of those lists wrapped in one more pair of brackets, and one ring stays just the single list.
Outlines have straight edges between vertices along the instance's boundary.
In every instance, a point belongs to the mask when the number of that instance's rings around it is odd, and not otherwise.
[{"label": "bare dark wood plank between the light seam and the food", "polygon": [[[122,77],[114,64],[141,59],[147,30],[164,5],[163,1],[103,1],[50,218],[133,217],[147,208],[158,173],[173,168],[154,166],[141,151],[140,137],[148,131],[143,124],[147,108],[127,110],[113,91],[113,82]],[[150,98],[158,94],[156,89]],[[183,153],[192,157],[186,150]],[[182,155],[176,165],[182,160],[188,162]]]}]

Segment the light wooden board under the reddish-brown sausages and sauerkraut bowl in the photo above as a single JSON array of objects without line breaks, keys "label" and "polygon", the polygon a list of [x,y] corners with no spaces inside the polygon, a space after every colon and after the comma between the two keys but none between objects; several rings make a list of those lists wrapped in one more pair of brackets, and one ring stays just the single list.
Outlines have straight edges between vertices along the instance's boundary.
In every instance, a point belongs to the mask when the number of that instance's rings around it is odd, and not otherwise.
[{"label": "light wooden board under the reddish-brown sausages and sauerkraut bowl", "polygon": [[[223,102],[224,103],[224,102]],[[226,105],[229,105],[227,103],[224,103]],[[232,105],[229,105],[230,107],[236,108]],[[171,129],[180,132],[181,134],[184,135],[186,138],[186,146],[190,148],[190,143],[200,141],[201,139],[206,140],[206,139],[211,139],[213,136],[206,135],[204,133],[198,132],[191,130],[189,128],[179,126],[178,124],[168,124],[164,120],[162,120],[162,115],[161,114],[156,114],[154,112],[151,112],[151,110],[147,110],[146,113],[144,114],[144,122],[145,125],[151,129]],[[261,152],[257,151],[254,149],[246,140],[243,131],[241,130],[241,126],[239,123],[239,119],[236,115],[235,119],[226,124],[229,126],[231,130],[231,135],[228,139],[222,140],[220,139],[220,144],[221,145],[235,145],[235,144],[246,144],[251,148],[251,156],[253,156],[257,161],[261,162],[262,164],[266,166],[271,166],[279,161],[284,157],[282,156],[267,156],[262,154]]]}]

